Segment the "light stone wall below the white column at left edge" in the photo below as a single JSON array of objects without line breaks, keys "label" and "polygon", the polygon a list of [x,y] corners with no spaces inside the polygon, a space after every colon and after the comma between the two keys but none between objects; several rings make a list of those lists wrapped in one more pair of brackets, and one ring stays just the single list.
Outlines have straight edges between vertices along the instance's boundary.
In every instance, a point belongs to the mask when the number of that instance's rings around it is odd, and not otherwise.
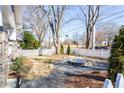
[{"label": "light stone wall below the white column at left edge", "polygon": [[8,41],[5,32],[0,32],[0,88],[6,85],[11,59],[17,57],[17,42]]}]

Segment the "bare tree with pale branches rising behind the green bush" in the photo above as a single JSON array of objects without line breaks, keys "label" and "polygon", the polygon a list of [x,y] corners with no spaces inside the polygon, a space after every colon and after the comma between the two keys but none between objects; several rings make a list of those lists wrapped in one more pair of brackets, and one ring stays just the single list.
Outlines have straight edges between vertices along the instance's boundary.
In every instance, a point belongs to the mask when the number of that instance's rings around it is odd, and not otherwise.
[{"label": "bare tree with pale branches rising behind the green bush", "polygon": [[25,6],[24,25],[27,29],[35,32],[40,43],[43,42],[48,28],[48,22],[45,18],[45,13],[38,6]]}]

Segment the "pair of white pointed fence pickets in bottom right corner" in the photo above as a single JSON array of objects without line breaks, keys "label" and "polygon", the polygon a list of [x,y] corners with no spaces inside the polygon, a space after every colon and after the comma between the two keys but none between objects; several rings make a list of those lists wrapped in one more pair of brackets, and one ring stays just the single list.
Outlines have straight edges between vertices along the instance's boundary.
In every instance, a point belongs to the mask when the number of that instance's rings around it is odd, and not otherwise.
[{"label": "pair of white pointed fence pickets in bottom right corner", "polygon": [[118,73],[115,81],[115,86],[112,85],[112,81],[106,79],[103,88],[124,88],[124,77],[123,74]]}]

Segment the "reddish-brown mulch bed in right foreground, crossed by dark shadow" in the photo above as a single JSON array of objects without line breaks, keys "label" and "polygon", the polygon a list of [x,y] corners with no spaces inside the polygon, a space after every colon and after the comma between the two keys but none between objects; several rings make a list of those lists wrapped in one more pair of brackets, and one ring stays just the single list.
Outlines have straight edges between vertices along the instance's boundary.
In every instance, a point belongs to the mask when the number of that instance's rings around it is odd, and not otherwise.
[{"label": "reddish-brown mulch bed in right foreground, crossed by dark shadow", "polygon": [[85,71],[80,74],[69,74],[65,79],[67,88],[102,88],[107,72],[93,73]]}]

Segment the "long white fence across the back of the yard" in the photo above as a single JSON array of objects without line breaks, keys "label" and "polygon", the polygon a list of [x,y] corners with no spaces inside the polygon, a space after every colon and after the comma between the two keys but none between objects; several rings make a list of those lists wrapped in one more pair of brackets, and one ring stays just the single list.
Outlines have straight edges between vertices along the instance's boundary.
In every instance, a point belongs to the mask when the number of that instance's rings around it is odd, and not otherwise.
[{"label": "long white fence across the back of the yard", "polygon": [[[66,49],[64,51],[66,53]],[[31,50],[19,50],[18,54],[21,56],[51,56],[55,54],[55,49],[31,49]],[[88,56],[88,57],[98,57],[107,59],[110,56],[110,50],[105,49],[71,49],[71,54],[79,56]]]}]

